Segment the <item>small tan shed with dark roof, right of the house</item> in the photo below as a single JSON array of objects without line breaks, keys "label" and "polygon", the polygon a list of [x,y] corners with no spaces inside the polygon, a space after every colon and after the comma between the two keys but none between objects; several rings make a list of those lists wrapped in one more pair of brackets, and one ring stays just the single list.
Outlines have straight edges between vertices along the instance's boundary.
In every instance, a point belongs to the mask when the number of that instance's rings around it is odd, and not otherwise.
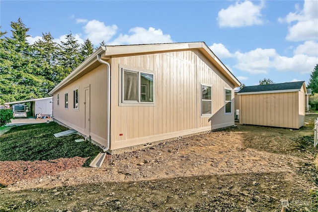
[{"label": "small tan shed with dark roof, right of the house", "polygon": [[304,81],[245,86],[238,92],[239,123],[299,129],[306,93]]}]

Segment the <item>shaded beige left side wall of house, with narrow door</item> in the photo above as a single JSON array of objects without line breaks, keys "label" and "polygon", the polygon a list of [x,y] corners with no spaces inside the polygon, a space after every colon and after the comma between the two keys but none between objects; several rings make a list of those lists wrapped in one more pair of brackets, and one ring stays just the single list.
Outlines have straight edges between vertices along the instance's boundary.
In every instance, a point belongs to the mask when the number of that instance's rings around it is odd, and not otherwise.
[{"label": "shaded beige left side wall of house, with narrow door", "polygon": [[[90,87],[90,133],[85,131],[85,111],[84,88]],[[70,85],[59,90],[53,95],[54,112],[53,117],[76,129],[81,134],[89,136],[91,139],[106,145],[107,129],[107,70],[106,66],[100,65],[88,74],[79,78]],[[73,91],[79,89],[79,109],[73,108]],[[68,93],[68,108],[65,108],[64,95]],[[57,105],[57,94],[59,94],[60,104]]]}]

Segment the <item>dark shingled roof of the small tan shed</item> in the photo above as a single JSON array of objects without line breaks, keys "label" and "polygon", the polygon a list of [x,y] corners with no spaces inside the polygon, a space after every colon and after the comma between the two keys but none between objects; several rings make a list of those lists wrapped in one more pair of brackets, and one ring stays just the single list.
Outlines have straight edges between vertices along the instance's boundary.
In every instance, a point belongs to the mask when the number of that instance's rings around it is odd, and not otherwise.
[{"label": "dark shingled roof of the small tan shed", "polygon": [[305,87],[305,81],[290,82],[290,83],[276,83],[269,85],[245,86],[238,95],[246,94],[266,94],[266,93],[284,93],[284,92],[298,92],[302,87]]}]

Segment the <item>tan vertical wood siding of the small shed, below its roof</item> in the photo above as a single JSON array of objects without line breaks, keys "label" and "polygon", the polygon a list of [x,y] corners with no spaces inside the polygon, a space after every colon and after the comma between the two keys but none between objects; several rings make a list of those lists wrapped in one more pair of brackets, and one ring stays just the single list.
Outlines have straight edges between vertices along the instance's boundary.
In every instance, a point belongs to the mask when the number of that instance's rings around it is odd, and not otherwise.
[{"label": "tan vertical wood siding of the small shed, below its roof", "polygon": [[303,92],[239,95],[242,124],[299,128],[304,125]]}]

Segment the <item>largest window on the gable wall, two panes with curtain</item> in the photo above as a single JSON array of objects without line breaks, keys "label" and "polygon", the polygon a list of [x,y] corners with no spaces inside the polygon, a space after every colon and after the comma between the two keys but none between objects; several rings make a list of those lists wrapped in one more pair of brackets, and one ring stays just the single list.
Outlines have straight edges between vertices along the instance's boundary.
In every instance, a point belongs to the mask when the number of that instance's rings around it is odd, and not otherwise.
[{"label": "largest window on the gable wall, two panes with curtain", "polygon": [[153,103],[154,75],[122,69],[122,103]]}]

